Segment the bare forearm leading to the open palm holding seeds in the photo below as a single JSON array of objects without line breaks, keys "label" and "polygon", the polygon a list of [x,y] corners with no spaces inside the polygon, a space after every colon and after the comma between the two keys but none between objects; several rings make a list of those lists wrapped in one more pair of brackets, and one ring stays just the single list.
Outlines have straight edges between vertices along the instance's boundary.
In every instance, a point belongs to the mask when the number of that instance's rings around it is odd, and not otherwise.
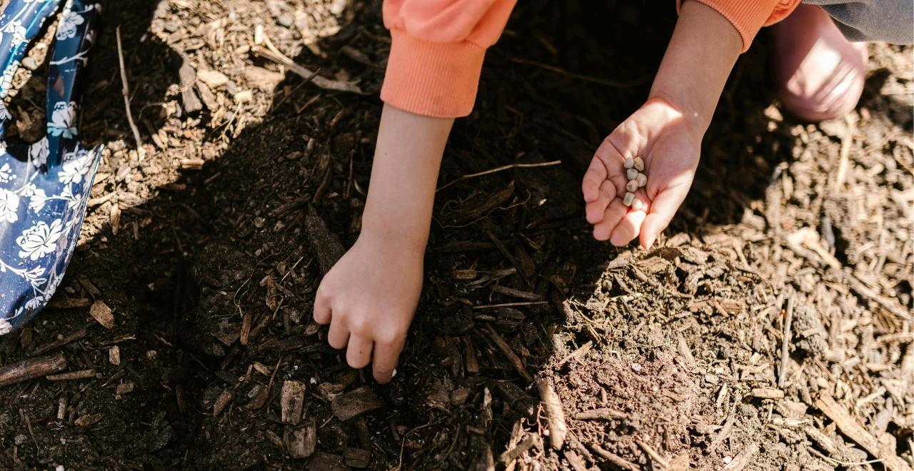
[{"label": "bare forearm leading to the open palm holding seeds", "polygon": [[686,1],[651,98],[667,101],[703,134],[741,48],[739,31],[727,18],[707,5]]}]

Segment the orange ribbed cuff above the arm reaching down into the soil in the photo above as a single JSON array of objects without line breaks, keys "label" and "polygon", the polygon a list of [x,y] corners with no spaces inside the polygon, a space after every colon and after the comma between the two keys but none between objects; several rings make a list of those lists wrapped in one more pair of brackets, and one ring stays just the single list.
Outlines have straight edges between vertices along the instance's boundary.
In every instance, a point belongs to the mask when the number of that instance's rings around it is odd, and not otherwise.
[{"label": "orange ribbed cuff above the arm reaching down into the soil", "polygon": [[485,48],[435,43],[390,31],[392,43],[381,99],[390,106],[435,118],[470,114],[476,101]]}]

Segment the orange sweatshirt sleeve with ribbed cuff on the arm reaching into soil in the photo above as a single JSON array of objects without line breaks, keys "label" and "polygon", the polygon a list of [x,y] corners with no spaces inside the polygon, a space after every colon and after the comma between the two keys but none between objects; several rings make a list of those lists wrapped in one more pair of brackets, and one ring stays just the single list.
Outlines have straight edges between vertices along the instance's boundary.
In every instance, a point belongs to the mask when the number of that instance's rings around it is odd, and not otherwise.
[{"label": "orange sweatshirt sleeve with ribbed cuff on the arm reaching into soil", "polygon": [[385,0],[390,57],[381,99],[438,118],[470,114],[486,48],[516,0]]}]

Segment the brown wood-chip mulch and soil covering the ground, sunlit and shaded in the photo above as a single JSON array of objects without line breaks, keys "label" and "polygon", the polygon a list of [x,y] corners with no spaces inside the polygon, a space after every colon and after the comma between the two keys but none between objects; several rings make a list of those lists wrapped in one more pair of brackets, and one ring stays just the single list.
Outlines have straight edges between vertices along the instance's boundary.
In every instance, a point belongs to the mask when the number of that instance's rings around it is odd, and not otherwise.
[{"label": "brown wood-chip mulch and soil covering the ground, sunlit and shaded", "polygon": [[[395,381],[380,386],[310,320],[338,244],[360,227],[389,48],[379,12],[377,1],[108,2],[80,125],[107,150],[80,248],[52,309],[0,341],[2,364],[62,351],[93,376],[0,390],[0,466],[912,465],[910,48],[871,45],[859,109],[812,125],[782,116],[762,35],[666,236],[617,250],[590,237],[579,177],[643,102],[675,11],[521,3],[440,184],[561,163],[439,192],[419,313]],[[260,27],[298,64],[366,94],[258,57]],[[43,122],[45,68],[17,78],[10,109],[26,138]],[[112,330],[90,317],[97,301]],[[560,450],[527,375],[562,403]]]}]

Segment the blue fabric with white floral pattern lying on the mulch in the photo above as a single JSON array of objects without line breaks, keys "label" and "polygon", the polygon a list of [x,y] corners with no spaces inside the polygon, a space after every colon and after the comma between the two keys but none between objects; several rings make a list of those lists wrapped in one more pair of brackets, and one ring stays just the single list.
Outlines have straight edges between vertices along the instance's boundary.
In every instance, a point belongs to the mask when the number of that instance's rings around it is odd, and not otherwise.
[{"label": "blue fabric with white floral pattern lying on the mulch", "polygon": [[[0,99],[60,0],[11,0],[0,16]],[[34,143],[0,140],[0,335],[32,319],[54,295],[80,236],[101,147],[80,145],[77,76],[86,67],[100,6],[66,2],[48,65],[48,130]],[[0,137],[12,116],[0,102]]]}]

